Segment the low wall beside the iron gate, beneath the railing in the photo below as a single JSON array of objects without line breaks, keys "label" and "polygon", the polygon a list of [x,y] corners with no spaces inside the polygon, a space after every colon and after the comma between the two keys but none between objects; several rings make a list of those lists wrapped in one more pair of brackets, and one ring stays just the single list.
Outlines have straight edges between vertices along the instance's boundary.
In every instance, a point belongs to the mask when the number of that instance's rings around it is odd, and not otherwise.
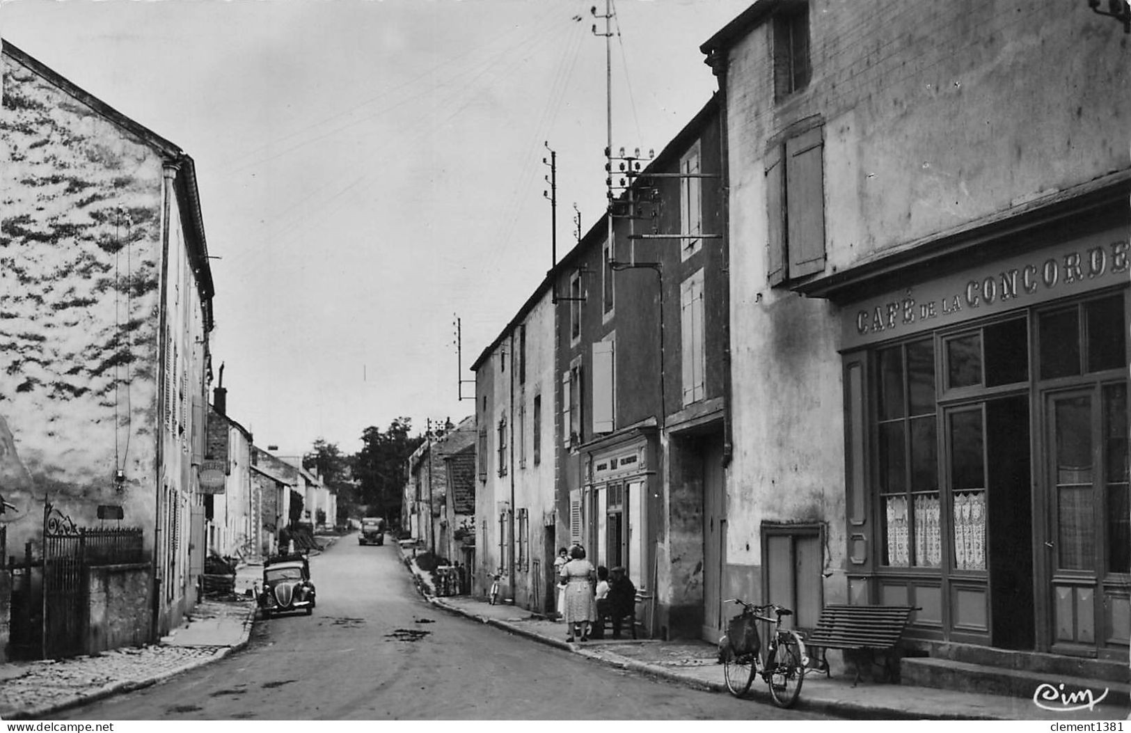
[{"label": "low wall beside the iron gate, beneath the railing", "polygon": [[149,563],[88,568],[86,577],[87,654],[152,641]]}]

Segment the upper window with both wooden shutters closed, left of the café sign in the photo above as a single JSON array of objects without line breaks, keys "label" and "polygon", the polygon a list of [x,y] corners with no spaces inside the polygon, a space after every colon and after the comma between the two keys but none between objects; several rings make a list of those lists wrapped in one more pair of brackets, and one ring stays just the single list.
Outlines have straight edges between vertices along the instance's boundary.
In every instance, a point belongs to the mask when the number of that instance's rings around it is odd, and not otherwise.
[{"label": "upper window with both wooden shutters closed, left of the caf\u00e9 sign", "polygon": [[770,285],[824,269],[823,129],[812,128],[766,154]]}]

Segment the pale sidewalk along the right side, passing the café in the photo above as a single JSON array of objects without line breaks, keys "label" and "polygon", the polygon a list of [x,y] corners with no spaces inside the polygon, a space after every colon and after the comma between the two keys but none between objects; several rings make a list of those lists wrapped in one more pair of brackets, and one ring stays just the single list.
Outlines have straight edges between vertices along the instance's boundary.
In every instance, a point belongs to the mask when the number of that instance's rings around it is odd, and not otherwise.
[{"label": "pale sidewalk along the right side, passing the caf\u00e9", "polygon": [[[420,575],[409,563],[409,569]],[[472,596],[424,596],[433,605],[475,619],[511,633],[566,649],[602,664],[631,670],[693,688],[729,695],[717,661],[715,645],[697,640],[604,639],[567,643],[566,624],[533,615],[518,606],[491,605]],[[831,654],[831,653],[830,653]],[[772,705],[766,684],[756,678],[748,693],[752,705]],[[1038,708],[1031,699],[998,695],[974,695],[952,690],[861,682],[822,673],[805,675],[798,709],[828,713],[854,719],[943,719],[943,721],[1112,721],[1125,719],[1121,706],[1097,705],[1094,710],[1053,713]]]}]

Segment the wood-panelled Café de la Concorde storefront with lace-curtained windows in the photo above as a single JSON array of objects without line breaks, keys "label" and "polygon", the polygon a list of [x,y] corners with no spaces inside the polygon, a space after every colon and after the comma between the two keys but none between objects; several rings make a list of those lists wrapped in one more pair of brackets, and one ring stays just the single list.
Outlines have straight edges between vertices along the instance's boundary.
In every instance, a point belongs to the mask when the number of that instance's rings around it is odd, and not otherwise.
[{"label": "wood-panelled Caf\u00e9 de la Concorde storefront with lace-curtained windows", "polygon": [[922,640],[1126,658],[1129,257],[1124,196],[830,295],[852,602],[917,606]]}]

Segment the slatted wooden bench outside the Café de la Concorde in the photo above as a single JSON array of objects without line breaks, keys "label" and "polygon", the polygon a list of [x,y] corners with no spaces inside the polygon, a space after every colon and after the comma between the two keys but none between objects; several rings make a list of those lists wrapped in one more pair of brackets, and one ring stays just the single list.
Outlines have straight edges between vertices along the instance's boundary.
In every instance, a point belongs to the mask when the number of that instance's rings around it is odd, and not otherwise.
[{"label": "slatted wooden bench outside the Caf\u00e9 de la Concorde", "polygon": [[[879,653],[884,655],[886,663],[882,666],[888,673],[888,679],[893,679],[892,653],[899,644],[904,629],[910,622],[912,612],[918,610],[915,606],[827,605],[821,611],[817,628],[805,637],[808,648],[820,649],[819,659],[812,652],[810,658],[818,659],[817,670],[823,671],[824,675],[829,676],[829,661],[826,657],[828,649],[867,652],[872,655],[873,664],[875,654]],[[861,680],[858,661],[855,666],[856,679],[853,681],[853,687]]]}]

